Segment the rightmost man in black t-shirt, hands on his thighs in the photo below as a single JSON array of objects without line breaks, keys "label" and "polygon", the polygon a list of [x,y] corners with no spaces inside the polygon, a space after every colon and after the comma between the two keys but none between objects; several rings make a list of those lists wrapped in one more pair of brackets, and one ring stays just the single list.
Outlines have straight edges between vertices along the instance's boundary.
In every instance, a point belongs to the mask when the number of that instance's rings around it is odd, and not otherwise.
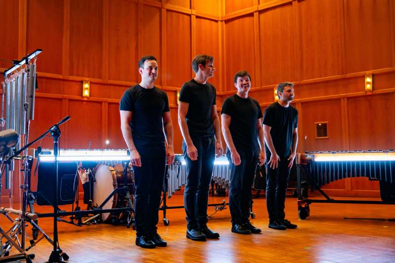
[{"label": "rightmost man in black t-shirt, hands on his thighs", "polygon": [[266,163],[266,205],[269,213],[269,227],[285,230],[296,228],[285,219],[285,194],[289,171],[296,156],[298,145],[298,111],[290,105],[294,99],[292,82],[277,85],[278,102],[269,105],[263,116],[265,133]]}]

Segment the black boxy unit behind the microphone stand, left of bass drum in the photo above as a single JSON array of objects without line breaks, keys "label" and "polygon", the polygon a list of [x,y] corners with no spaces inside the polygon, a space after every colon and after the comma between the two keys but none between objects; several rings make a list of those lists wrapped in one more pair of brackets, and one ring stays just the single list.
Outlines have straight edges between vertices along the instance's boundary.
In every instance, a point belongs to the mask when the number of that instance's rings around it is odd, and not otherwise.
[{"label": "black boxy unit behind the microphone stand, left of bass drum", "polygon": [[[58,205],[74,203],[78,184],[76,162],[59,162]],[[54,186],[56,185],[56,168],[53,162],[39,164],[37,191],[42,192],[52,204],[55,202]],[[38,194],[38,205],[51,205],[43,196]]]}]

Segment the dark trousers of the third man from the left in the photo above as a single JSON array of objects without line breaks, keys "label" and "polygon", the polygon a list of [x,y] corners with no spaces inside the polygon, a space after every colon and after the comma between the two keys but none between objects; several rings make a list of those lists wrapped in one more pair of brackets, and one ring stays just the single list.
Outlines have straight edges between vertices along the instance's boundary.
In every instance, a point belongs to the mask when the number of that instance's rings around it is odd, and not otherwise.
[{"label": "dark trousers of the third man from the left", "polygon": [[254,183],[258,165],[257,152],[238,151],[241,163],[232,163],[231,153],[227,152],[229,168],[231,170],[231,184],[229,186],[229,209],[232,223],[247,223],[251,204],[251,187]]}]

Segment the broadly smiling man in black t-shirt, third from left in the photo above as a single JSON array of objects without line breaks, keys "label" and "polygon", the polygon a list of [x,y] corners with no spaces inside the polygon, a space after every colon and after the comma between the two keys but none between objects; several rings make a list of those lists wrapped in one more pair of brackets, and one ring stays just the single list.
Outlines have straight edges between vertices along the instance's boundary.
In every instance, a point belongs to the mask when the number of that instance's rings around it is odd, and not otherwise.
[{"label": "broadly smiling man in black t-shirt, third from left", "polygon": [[225,99],[222,110],[222,134],[230,162],[231,184],[229,186],[229,209],[232,216],[232,232],[238,234],[260,233],[248,218],[251,187],[259,160],[266,160],[262,111],[256,100],[248,97],[251,76],[239,71],[234,76],[237,93]]}]

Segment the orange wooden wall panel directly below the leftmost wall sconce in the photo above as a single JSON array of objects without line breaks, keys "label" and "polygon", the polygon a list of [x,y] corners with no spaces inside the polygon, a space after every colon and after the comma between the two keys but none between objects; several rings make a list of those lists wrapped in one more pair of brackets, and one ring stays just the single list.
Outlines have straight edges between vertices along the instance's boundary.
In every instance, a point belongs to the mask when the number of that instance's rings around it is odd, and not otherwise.
[{"label": "orange wooden wall panel directly below the leftmost wall sconce", "polygon": [[88,101],[69,102],[67,142],[69,149],[87,149],[91,141],[92,149],[101,149],[102,138],[102,103]]}]

